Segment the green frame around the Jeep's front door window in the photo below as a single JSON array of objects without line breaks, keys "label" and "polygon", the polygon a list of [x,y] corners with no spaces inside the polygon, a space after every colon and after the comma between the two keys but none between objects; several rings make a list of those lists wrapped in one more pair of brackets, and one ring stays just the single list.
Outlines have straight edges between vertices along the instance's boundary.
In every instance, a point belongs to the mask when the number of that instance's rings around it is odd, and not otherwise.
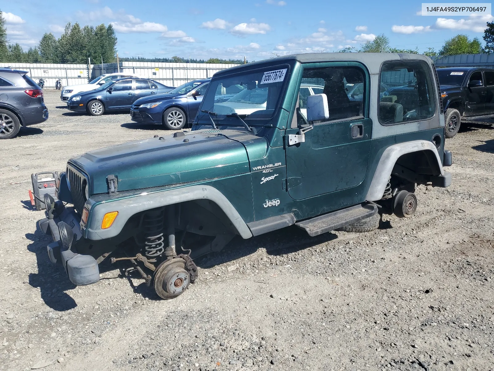
[{"label": "green frame around the Jeep's front door window", "polygon": [[[331,124],[335,122],[342,122],[342,121],[357,121],[357,120],[364,120],[369,118],[369,107],[370,107],[370,96],[371,96],[371,74],[369,73],[369,70],[367,69],[367,66],[363,63],[360,62],[316,62],[316,63],[302,63],[302,68],[300,69],[300,77],[299,77],[299,83],[297,84],[297,90],[295,91],[294,94],[294,105],[295,107],[298,107],[298,93],[300,91],[301,85],[305,84],[302,83],[302,78],[303,78],[303,73],[306,69],[317,69],[317,68],[337,68],[337,67],[348,67],[348,68],[359,68],[362,70],[364,74],[364,97],[362,98],[362,116],[352,116],[352,117],[347,117],[343,119],[336,119],[336,120],[321,120],[321,121],[316,121],[313,123],[314,126],[317,125],[326,125],[326,124]],[[293,126],[293,122],[298,124],[298,115],[296,112],[293,113],[293,118],[291,121],[291,128],[296,128],[297,126]]]}]

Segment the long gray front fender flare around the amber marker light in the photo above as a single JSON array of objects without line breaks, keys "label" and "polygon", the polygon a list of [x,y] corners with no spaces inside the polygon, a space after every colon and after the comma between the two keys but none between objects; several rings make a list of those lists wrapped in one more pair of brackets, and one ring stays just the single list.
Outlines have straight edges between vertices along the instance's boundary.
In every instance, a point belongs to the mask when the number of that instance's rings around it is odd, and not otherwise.
[{"label": "long gray front fender flare around the amber marker light", "polygon": [[[216,203],[230,219],[237,232],[243,238],[252,237],[252,233],[233,207],[231,202],[216,188],[210,185],[191,185],[184,188],[170,189],[161,192],[142,192],[132,197],[116,200],[109,199],[91,208],[91,219],[84,230],[84,237],[91,240],[100,240],[118,235],[128,219],[141,211],[154,209],[166,205],[173,205],[185,201],[207,199]],[[101,229],[101,222],[106,213],[118,211],[119,214],[113,225],[108,229]]]}]

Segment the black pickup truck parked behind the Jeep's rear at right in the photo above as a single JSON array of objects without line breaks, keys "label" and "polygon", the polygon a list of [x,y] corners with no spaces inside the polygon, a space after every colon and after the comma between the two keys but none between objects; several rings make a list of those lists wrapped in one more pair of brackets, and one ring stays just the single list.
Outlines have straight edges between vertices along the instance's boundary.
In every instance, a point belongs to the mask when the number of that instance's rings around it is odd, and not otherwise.
[{"label": "black pickup truck parked behind the Jeep's rear at right", "polygon": [[461,119],[494,116],[494,70],[478,67],[438,68],[444,106],[445,137],[453,138]]}]

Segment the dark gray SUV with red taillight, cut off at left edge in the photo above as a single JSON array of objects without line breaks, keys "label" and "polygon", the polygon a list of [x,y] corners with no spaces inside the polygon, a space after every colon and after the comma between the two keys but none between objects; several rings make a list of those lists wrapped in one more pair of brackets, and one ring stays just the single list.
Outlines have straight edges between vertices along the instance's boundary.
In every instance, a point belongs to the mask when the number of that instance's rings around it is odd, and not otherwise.
[{"label": "dark gray SUV with red taillight, cut off at left edge", "polygon": [[14,138],[21,126],[48,118],[43,91],[27,71],[0,68],[0,139]]}]

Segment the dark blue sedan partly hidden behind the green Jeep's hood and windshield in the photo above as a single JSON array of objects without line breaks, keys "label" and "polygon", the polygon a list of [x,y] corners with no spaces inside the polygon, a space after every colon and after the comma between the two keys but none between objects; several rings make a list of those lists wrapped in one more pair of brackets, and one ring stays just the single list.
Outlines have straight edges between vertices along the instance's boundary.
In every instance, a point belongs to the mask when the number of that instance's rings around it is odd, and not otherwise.
[{"label": "dark blue sedan partly hidden behind the green Jeep's hood and windshield", "polygon": [[142,124],[163,124],[169,130],[182,129],[185,124],[194,122],[209,81],[190,81],[166,94],[140,98],[132,104],[130,117]]}]

